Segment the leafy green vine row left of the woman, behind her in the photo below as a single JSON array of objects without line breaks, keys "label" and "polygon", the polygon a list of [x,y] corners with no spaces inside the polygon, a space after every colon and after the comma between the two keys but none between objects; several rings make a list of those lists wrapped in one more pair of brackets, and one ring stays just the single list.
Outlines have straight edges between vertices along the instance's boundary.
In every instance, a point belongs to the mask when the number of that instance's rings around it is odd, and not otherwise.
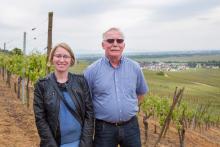
[{"label": "leafy green vine row left of the woman, behind her", "polygon": [[9,87],[11,87],[11,76],[17,76],[14,91],[17,92],[17,97],[21,98],[20,89],[23,83],[25,87],[23,91],[25,92],[22,95],[22,101],[29,106],[30,84],[45,76],[46,56],[40,53],[33,53],[28,56],[15,53],[0,53],[0,73]]}]

